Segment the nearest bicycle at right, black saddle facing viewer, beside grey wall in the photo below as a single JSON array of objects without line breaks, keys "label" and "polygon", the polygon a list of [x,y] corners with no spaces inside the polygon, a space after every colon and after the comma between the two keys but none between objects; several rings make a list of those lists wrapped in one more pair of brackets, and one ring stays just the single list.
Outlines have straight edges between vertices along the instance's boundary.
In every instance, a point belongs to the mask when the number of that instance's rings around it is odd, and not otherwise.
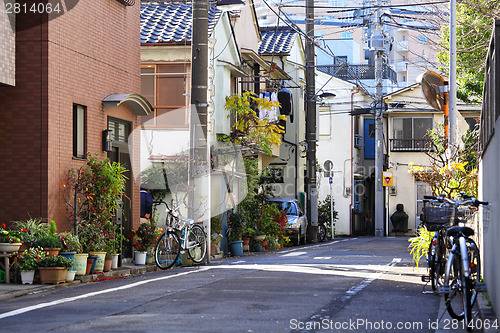
[{"label": "nearest bicycle at right, black saddle facing viewer, beside grey wall", "polygon": [[[462,207],[477,209],[479,205],[488,205],[473,196],[461,194],[463,200],[451,200],[434,197],[436,200],[447,201],[456,212]],[[460,222],[463,222],[461,219]],[[467,226],[453,226],[446,231],[451,250],[444,273],[443,284],[438,287],[444,294],[445,305],[450,316],[457,320],[465,320],[467,330],[471,330],[472,306],[477,294],[486,291],[486,285],[481,282],[481,260],[479,248],[470,237],[474,230]]]}]

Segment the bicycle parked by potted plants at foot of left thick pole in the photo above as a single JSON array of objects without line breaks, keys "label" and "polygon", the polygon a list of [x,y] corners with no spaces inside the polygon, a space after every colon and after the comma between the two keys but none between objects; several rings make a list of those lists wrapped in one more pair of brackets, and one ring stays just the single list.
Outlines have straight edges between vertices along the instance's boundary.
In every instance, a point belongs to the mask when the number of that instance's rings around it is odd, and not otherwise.
[{"label": "bicycle parked by potted plants at foot of left thick pole", "polygon": [[166,230],[155,246],[156,266],[160,269],[171,268],[178,261],[181,251],[186,251],[193,262],[201,263],[207,253],[207,236],[200,222],[180,219],[163,200],[153,204],[164,204],[167,209]]}]

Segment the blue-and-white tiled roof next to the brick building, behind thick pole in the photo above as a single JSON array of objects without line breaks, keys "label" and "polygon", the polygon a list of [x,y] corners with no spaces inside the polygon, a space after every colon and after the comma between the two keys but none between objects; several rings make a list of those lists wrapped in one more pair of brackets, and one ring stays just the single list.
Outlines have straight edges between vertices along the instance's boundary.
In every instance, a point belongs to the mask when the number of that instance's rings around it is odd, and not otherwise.
[{"label": "blue-and-white tiled roof next to the brick building, behind thick pole", "polygon": [[[211,6],[208,33],[212,34],[221,11]],[[191,43],[193,13],[191,3],[141,3],[141,43]]]}]

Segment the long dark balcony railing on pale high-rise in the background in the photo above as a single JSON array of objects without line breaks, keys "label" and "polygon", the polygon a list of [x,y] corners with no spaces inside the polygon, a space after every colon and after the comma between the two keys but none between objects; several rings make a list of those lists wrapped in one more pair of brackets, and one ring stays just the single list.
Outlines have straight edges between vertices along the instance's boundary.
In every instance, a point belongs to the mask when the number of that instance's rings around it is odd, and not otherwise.
[{"label": "long dark balcony railing on pale high-rise in the background", "polygon": [[[323,73],[346,81],[375,79],[375,66],[373,65],[319,65],[316,68]],[[387,64],[384,64],[383,72],[384,79],[389,79],[393,83],[398,82],[398,75]]]}]

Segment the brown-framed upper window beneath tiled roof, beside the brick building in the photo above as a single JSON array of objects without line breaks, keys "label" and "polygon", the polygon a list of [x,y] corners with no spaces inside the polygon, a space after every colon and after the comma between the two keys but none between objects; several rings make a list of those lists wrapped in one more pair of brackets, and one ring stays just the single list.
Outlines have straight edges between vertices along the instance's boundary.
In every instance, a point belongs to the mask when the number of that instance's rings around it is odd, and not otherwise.
[{"label": "brown-framed upper window beneath tiled roof, beside the brick building", "polygon": [[184,64],[143,65],[141,93],[154,112],[141,117],[147,126],[187,128],[189,124],[189,68]]}]

